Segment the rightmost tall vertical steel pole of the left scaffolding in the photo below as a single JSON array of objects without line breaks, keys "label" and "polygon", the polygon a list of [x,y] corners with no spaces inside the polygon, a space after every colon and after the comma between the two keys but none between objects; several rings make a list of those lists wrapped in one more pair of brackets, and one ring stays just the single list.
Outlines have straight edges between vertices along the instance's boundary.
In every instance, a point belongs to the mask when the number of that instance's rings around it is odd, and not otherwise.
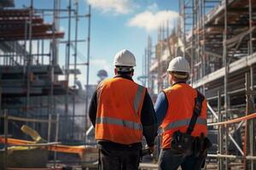
[{"label": "rightmost tall vertical steel pole of the left scaffolding", "polygon": [[[86,70],[86,97],[85,97],[85,131],[88,127],[87,116],[88,116],[88,102],[89,102],[89,71],[90,71],[90,5],[89,5],[89,18],[88,18],[88,37],[87,37],[87,70]],[[86,139],[86,138],[85,138]],[[86,143],[86,141],[85,141]]]}]

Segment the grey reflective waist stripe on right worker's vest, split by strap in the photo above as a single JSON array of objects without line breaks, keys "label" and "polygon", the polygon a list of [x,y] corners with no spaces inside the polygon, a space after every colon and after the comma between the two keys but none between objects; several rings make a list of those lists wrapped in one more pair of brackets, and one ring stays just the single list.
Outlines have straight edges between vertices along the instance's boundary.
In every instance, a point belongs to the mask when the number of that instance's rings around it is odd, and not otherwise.
[{"label": "grey reflective waist stripe on right worker's vest, split by strap", "polygon": [[[183,120],[178,120],[176,122],[171,122],[169,123],[164,130],[171,130],[172,128],[177,128],[177,127],[183,127],[183,126],[189,126],[190,118],[189,119],[183,119]],[[201,124],[201,125],[206,125],[207,126],[207,120],[201,117],[198,117],[196,120],[196,124]]]}]

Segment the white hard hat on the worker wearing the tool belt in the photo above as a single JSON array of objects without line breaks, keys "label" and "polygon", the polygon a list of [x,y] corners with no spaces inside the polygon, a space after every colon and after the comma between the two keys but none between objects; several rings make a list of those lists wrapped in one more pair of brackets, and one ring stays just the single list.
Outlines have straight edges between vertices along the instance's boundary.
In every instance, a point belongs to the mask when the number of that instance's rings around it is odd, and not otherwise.
[{"label": "white hard hat on the worker wearing the tool belt", "polygon": [[178,71],[189,73],[189,62],[184,57],[176,57],[169,63],[167,71]]}]

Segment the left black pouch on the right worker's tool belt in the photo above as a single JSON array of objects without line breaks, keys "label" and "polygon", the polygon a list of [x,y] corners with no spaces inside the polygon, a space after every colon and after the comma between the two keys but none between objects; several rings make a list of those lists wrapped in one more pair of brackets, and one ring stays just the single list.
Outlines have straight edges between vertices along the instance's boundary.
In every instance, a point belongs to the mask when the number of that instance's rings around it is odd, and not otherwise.
[{"label": "left black pouch on the right worker's tool belt", "polygon": [[172,136],[171,148],[185,154],[185,156],[190,156],[193,153],[193,139],[188,133],[176,131]]}]

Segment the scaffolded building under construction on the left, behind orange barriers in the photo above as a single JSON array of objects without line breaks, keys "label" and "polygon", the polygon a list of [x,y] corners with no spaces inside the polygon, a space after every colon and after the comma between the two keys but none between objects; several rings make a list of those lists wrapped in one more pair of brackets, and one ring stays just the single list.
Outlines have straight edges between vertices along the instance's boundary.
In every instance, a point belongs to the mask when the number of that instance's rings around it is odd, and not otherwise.
[{"label": "scaffolded building under construction on the left, behind orange barriers", "polygon": [[[52,0],[49,8],[37,3],[15,8],[14,0],[0,2],[0,169],[57,169],[87,159],[87,92],[94,88],[88,84],[90,7],[79,12],[79,1],[63,7]],[[67,23],[65,31],[61,22]],[[84,37],[81,22],[88,30]],[[85,87],[77,78],[81,69],[87,72]]]}]

